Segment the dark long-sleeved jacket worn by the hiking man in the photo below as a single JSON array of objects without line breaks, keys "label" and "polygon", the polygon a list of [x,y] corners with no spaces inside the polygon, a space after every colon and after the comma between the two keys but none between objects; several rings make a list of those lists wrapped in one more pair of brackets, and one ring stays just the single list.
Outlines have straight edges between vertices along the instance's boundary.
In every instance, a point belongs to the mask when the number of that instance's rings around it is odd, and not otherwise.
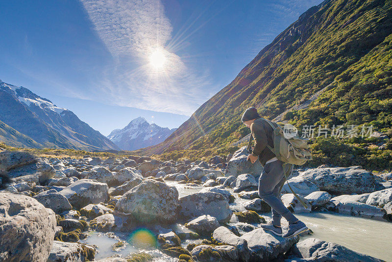
[{"label": "dark long-sleeved jacket worn by the hiking man", "polygon": [[259,156],[261,164],[264,166],[268,160],[276,157],[267,147],[267,144],[273,148],[272,128],[267,121],[259,118],[250,125],[250,131],[254,138],[253,156]]}]

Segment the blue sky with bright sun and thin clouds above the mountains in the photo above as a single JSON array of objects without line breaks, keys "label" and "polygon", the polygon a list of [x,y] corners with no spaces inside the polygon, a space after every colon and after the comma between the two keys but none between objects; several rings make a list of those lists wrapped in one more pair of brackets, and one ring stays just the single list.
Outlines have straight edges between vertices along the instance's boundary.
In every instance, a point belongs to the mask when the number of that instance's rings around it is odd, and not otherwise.
[{"label": "blue sky with bright sun and thin clouds above the mountains", "polygon": [[0,79],[108,135],[176,128],[321,0],[0,1]]}]

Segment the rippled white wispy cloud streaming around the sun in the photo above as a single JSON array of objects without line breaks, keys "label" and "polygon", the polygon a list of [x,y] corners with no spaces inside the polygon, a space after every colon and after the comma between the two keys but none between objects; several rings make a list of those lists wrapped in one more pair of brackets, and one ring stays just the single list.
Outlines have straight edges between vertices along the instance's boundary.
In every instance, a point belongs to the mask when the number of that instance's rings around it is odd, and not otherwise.
[{"label": "rippled white wispy cloud streaming around the sun", "polygon": [[[172,25],[159,0],[81,0],[99,38],[113,55],[114,65],[102,73],[99,92],[111,103],[190,115],[206,97],[207,73],[196,73],[167,45]],[[153,68],[153,52],[165,57]],[[131,61],[131,62],[130,62]]]}]

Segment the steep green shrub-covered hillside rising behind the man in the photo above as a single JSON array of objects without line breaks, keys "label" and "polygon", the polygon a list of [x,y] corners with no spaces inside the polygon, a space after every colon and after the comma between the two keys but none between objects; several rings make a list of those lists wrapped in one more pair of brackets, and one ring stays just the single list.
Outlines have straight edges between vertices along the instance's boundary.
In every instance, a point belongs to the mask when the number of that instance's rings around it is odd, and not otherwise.
[{"label": "steep green shrub-covered hillside rising behind the man", "polygon": [[[367,125],[392,136],[392,0],[330,0],[310,8],[165,142],[162,158],[224,155],[249,133],[241,115],[303,125]],[[316,129],[317,132],[317,129]],[[381,138],[315,138],[310,165],[392,168]]]}]

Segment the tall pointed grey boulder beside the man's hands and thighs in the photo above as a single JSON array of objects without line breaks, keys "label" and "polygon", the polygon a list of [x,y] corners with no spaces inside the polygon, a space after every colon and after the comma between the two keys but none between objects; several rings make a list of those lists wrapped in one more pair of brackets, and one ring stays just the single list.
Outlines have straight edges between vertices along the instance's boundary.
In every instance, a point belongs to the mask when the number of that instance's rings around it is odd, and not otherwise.
[{"label": "tall pointed grey boulder beside the man's hands and thighs", "polygon": [[259,177],[263,171],[263,166],[260,161],[256,161],[254,164],[247,161],[246,158],[248,155],[246,146],[237,150],[230,161],[228,161],[224,176],[238,177],[241,174],[251,174],[255,178]]}]

